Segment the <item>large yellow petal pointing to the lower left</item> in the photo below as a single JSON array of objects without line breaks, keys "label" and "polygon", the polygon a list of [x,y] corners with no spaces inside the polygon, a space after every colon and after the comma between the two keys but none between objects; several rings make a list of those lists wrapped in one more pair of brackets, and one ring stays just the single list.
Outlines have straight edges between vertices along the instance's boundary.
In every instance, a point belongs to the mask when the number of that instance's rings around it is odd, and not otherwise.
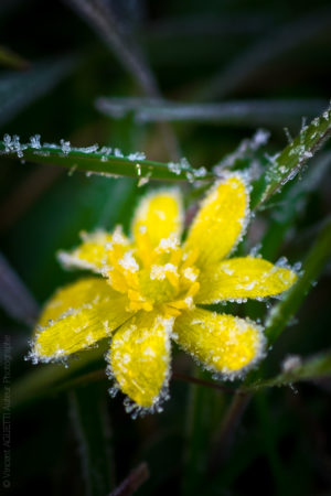
[{"label": "large yellow petal pointing to the lower left", "polygon": [[82,279],[58,290],[41,315],[31,358],[51,362],[110,335],[131,316],[127,302],[98,278]]}]

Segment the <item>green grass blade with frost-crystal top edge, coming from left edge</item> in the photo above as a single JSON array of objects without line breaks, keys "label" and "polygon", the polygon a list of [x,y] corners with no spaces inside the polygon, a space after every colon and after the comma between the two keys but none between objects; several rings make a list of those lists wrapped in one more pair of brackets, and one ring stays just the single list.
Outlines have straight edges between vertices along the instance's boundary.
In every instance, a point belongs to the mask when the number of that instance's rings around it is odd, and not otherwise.
[{"label": "green grass blade with frost-crystal top edge, coming from left edge", "polygon": [[0,141],[0,155],[11,159],[29,160],[31,162],[51,165],[62,165],[72,171],[85,171],[108,176],[136,177],[141,184],[150,179],[172,181],[194,181],[211,179],[204,168],[193,169],[185,159],[179,163],[156,162],[146,160],[143,153],[131,153],[125,157],[118,149],[97,144],[88,148],[71,147],[62,140],[61,144],[40,143],[40,137],[32,137],[30,143],[21,144],[18,137],[6,134]]}]

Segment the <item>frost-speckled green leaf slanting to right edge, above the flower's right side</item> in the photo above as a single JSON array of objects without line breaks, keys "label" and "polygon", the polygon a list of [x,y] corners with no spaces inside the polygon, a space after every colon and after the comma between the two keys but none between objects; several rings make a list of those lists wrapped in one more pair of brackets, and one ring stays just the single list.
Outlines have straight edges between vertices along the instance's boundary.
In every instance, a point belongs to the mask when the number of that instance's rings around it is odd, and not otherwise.
[{"label": "frost-speckled green leaf slanting to right edge, above the flower's right side", "polygon": [[[270,166],[256,187],[253,207],[258,208],[288,181],[296,177],[305,163],[331,136],[331,107],[305,126],[297,138],[281,153],[270,158]],[[259,191],[258,191],[259,190]]]}]

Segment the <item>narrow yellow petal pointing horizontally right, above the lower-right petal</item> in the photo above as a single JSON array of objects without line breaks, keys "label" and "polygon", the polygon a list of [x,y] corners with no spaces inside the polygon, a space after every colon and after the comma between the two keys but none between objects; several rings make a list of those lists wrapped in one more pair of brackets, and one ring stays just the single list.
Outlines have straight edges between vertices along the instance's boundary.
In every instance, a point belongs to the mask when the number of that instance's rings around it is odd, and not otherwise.
[{"label": "narrow yellow petal pointing horizontally right, above the lower-right petal", "polygon": [[297,280],[289,269],[261,258],[232,258],[209,267],[200,274],[196,303],[273,296],[286,291]]}]

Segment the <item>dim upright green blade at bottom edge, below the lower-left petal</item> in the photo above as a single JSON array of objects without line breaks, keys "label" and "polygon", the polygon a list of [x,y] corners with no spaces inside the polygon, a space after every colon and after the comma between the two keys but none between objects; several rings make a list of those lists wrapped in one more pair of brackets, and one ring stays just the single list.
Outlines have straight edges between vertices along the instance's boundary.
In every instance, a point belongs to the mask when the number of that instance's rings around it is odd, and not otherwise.
[{"label": "dim upright green blade at bottom edge, below the lower-left petal", "polygon": [[105,395],[95,384],[70,395],[73,428],[76,432],[87,496],[105,496],[114,485],[110,429]]}]

